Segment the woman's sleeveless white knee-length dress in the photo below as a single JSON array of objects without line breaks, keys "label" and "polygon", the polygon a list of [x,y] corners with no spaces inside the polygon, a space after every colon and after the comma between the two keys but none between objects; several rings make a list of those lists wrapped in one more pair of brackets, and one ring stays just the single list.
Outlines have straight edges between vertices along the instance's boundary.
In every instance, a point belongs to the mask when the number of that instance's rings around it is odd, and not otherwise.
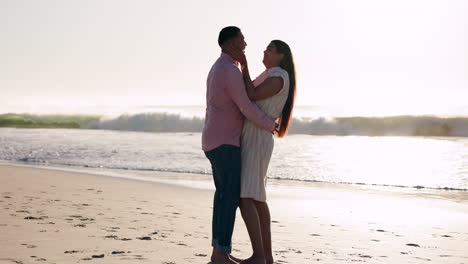
[{"label": "woman's sleeveless white knee-length dress", "polygon": [[[272,97],[255,102],[273,119],[280,117],[288,98],[288,72],[280,67],[265,70],[254,81],[255,87],[269,77],[283,78],[283,87]],[[266,181],[268,164],[273,153],[273,134],[257,127],[246,119],[241,135],[241,198],[266,201]]]}]

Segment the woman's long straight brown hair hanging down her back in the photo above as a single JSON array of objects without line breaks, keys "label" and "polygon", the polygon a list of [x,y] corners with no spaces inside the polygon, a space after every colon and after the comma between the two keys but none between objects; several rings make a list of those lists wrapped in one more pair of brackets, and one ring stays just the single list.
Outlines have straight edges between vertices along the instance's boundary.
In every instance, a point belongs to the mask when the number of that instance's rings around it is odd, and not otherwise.
[{"label": "woman's long straight brown hair hanging down her back", "polygon": [[294,59],[291,53],[291,48],[289,48],[288,44],[281,40],[273,40],[272,43],[275,44],[276,52],[284,55],[279,66],[287,71],[289,75],[288,99],[286,99],[283,112],[279,118],[278,129],[278,137],[284,137],[288,133],[288,128],[292,119],[292,110],[294,107],[294,98],[296,95],[296,69],[294,66]]}]

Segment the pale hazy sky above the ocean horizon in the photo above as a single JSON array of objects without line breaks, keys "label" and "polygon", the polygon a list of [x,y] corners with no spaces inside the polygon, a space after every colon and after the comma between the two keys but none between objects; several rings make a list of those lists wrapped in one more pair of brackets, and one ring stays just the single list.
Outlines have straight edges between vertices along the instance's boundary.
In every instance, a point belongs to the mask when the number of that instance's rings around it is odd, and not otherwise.
[{"label": "pale hazy sky above the ocean horizon", "polygon": [[228,25],[253,75],[290,44],[299,105],[466,105],[467,17],[464,0],[0,0],[0,105],[203,105]]}]

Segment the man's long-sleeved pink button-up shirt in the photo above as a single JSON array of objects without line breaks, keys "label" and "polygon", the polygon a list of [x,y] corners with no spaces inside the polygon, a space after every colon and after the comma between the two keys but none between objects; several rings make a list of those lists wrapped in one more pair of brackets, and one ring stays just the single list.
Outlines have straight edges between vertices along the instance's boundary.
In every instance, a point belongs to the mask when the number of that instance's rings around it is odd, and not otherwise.
[{"label": "man's long-sleeved pink button-up shirt", "polygon": [[203,151],[221,145],[240,146],[244,116],[262,129],[273,131],[275,122],[252,103],[242,73],[234,59],[222,53],[207,79]]}]

